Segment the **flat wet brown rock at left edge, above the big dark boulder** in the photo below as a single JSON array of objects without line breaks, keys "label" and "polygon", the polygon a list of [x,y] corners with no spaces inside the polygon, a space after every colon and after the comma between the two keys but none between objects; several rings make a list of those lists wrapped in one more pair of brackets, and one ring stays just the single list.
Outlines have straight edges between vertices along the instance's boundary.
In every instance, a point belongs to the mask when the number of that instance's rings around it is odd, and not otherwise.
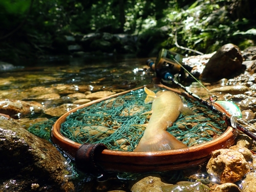
[{"label": "flat wet brown rock at left edge, above the big dark boulder", "polygon": [[20,118],[24,115],[40,112],[44,107],[35,101],[22,101],[15,99],[0,99],[0,113]]}]

